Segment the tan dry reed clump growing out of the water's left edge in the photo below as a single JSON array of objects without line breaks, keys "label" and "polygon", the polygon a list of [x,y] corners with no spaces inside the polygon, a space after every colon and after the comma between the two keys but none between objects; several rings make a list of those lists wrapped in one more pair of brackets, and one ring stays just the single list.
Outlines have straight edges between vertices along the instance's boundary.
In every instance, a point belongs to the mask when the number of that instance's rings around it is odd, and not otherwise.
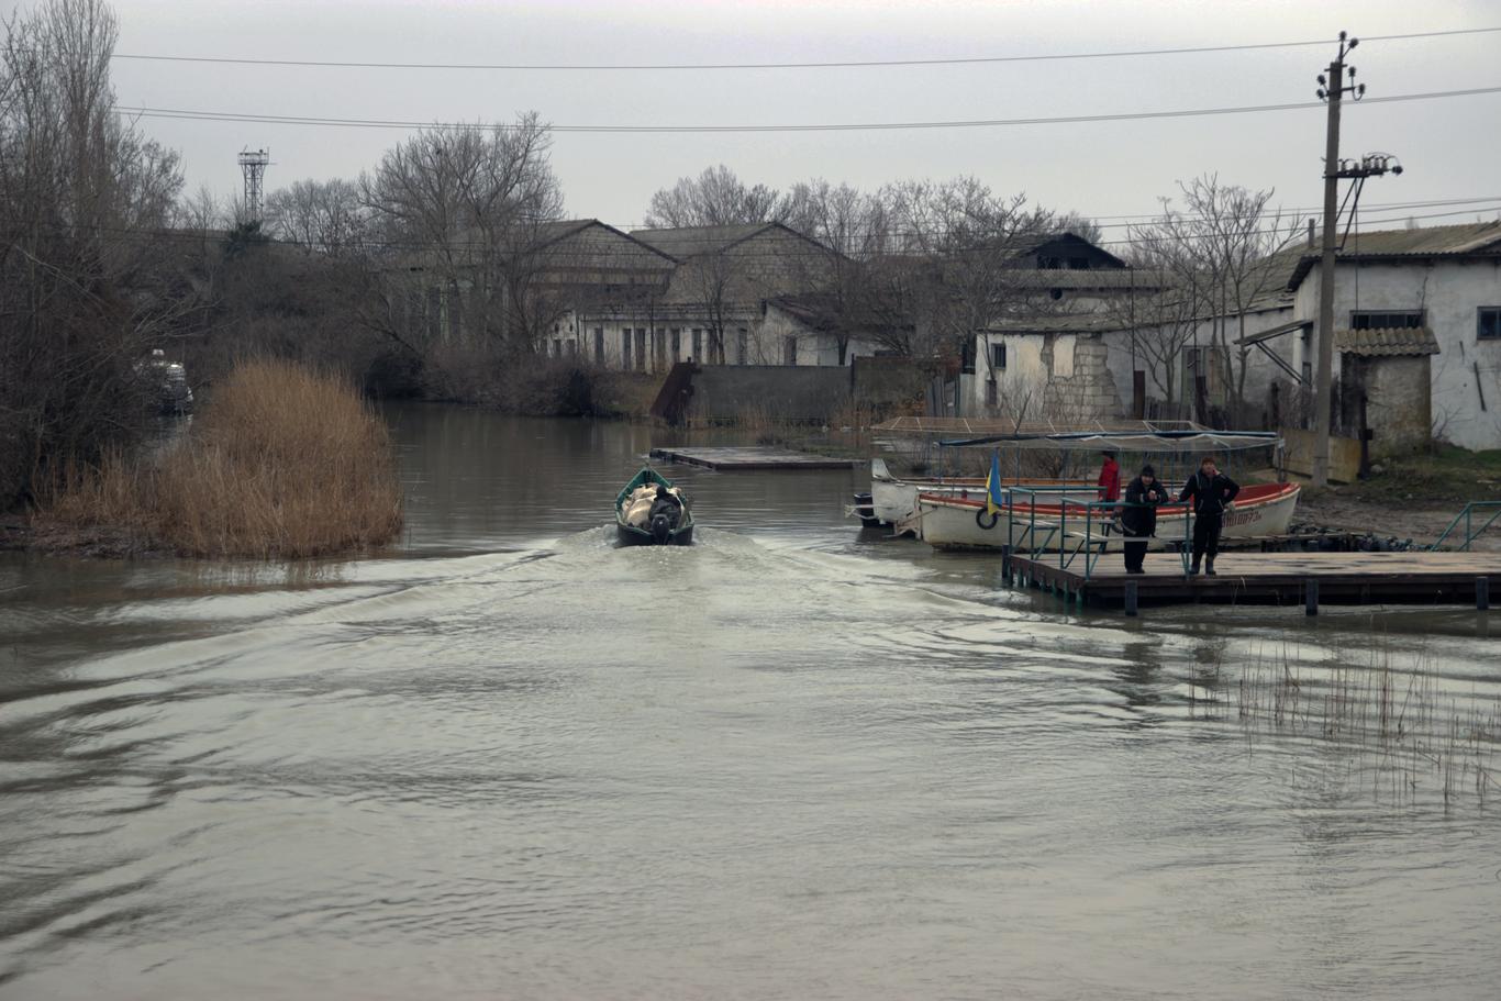
[{"label": "tan dry reed clump growing out of the water's left edge", "polygon": [[297,558],[366,549],[401,531],[386,425],[342,380],[290,362],[239,365],[192,431],[155,462],[72,470],[39,521],[107,528],[131,549]]}]

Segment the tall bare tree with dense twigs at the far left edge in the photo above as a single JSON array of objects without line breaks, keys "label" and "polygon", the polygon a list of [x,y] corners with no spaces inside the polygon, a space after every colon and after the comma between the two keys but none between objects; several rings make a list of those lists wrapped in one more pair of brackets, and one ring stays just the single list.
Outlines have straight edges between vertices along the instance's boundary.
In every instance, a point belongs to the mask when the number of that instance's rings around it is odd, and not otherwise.
[{"label": "tall bare tree with dense twigs at the far left edge", "polygon": [[114,108],[101,0],[5,23],[0,50],[0,497],[141,422],[135,374],[189,297],[168,294],[176,153]]}]

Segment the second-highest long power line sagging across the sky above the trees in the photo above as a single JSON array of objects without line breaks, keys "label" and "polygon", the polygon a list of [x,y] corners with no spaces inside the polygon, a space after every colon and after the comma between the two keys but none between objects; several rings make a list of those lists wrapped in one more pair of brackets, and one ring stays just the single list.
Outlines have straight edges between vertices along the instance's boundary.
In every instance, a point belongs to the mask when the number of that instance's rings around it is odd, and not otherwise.
[{"label": "second-highest long power line sagging across the sky above the trees", "polygon": [[[1501,93],[1501,87],[1471,87],[1466,90],[1433,90],[1412,95],[1388,95],[1385,98],[1366,98],[1361,104],[1399,104],[1408,101],[1438,101],[1447,98],[1474,98],[1480,95]],[[1256,114],[1262,111],[1303,111],[1307,108],[1322,108],[1318,101],[1297,101],[1288,104],[1240,105],[1228,108],[1178,108],[1172,111],[1123,111],[1112,114],[1073,114],[1049,116],[1037,119],[974,119],[953,122],[860,122],[860,123],[824,123],[824,125],[549,125],[551,132],[560,134],[608,134],[608,135],[666,135],[666,134],[713,134],[713,132],[880,132],[904,129],[976,129],[1003,128],[1022,125],[1087,125],[1096,122],[1142,122],[1151,119],[1193,119],[1222,114]],[[300,125],[321,128],[354,128],[354,129],[479,129],[495,128],[480,122],[396,122],[387,119],[336,119],[311,116],[281,116],[281,114],[240,114],[233,111],[194,111],[189,108],[150,108],[137,105],[116,105],[117,114],[135,116],[141,119],[180,119],[188,122],[251,122],[258,125]]]}]

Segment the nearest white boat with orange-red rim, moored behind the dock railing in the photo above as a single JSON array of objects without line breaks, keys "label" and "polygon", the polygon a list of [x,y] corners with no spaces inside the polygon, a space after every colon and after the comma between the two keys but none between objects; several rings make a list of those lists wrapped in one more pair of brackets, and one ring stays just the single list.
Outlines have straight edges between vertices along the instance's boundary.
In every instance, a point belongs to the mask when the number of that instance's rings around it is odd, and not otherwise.
[{"label": "nearest white boat with orange-red rim, moored behind the dock railing", "polygon": [[[1231,510],[1225,513],[1222,545],[1265,536],[1286,534],[1292,524],[1301,488],[1297,483],[1255,483],[1243,486]],[[998,515],[985,513],[983,497],[950,497],[919,494],[917,513],[899,530],[917,531],[935,549],[1079,549],[1087,543],[1102,551],[1118,552],[1123,537],[1108,516],[1096,510],[1087,515],[1084,504],[1031,504],[1015,494],[1013,504]],[[1187,519],[1187,525],[1184,521]],[[1153,549],[1192,537],[1193,516],[1186,504],[1163,504],[1157,509],[1157,534]],[[1103,545],[1102,545],[1103,542]]]}]

